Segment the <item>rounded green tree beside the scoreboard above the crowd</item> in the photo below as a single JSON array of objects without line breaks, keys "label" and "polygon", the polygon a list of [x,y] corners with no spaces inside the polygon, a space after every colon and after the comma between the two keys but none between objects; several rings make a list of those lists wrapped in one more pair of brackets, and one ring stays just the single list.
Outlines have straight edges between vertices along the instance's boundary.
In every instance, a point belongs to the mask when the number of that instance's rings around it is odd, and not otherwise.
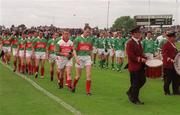
[{"label": "rounded green tree beside the scoreboard above the crowd", "polygon": [[112,28],[113,30],[129,32],[135,25],[135,20],[132,19],[130,16],[122,16],[115,20]]}]

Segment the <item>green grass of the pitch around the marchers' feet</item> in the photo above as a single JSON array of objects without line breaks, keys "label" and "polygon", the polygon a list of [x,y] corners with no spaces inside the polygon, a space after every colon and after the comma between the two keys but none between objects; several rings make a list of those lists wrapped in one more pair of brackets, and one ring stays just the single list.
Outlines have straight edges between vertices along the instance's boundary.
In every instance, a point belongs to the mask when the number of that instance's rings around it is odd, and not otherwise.
[{"label": "green grass of the pitch around the marchers' feet", "polygon": [[[35,80],[41,87],[79,110],[83,115],[179,115],[180,96],[165,96],[161,79],[147,79],[140,98],[144,106],[128,101],[127,70],[122,73],[94,67],[92,70],[92,96],[85,92],[83,71],[76,93],[65,87],[58,89],[56,80],[50,82],[49,64],[45,66],[45,79]],[[73,70],[74,76],[74,70]],[[0,64],[0,115],[67,115],[65,108],[36,90],[27,81],[14,75]]]}]

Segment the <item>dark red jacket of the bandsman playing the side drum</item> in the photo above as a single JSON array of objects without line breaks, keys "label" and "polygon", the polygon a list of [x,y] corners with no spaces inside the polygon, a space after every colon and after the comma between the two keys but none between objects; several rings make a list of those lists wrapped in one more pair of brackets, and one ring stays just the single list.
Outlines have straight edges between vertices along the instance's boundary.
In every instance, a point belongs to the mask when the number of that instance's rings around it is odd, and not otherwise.
[{"label": "dark red jacket of the bandsman playing the side drum", "polygon": [[143,48],[141,43],[136,43],[133,39],[127,42],[126,53],[128,56],[128,70],[130,72],[139,71],[142,69],[144,64],[141,59],[145,58],[143,55]]}]

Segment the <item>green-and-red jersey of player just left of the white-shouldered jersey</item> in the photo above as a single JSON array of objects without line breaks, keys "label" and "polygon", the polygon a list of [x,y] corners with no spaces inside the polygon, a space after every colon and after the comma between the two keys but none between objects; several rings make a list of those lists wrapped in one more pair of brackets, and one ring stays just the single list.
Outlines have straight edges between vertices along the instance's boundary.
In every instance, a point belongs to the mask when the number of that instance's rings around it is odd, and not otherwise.
[{"label": "green-and-red jersey of player just left of the white-shouldered jersey", "polygon": [[48,40],[47,49],[49,54],[55,54],[56,40],[53,38]]}]

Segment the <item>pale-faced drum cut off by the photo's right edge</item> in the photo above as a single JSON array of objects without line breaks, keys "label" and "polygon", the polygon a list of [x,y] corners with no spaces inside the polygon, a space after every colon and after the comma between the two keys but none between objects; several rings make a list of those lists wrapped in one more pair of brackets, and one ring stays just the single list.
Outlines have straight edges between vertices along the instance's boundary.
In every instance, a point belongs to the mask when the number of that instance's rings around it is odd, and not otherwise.
[{"label": "pale-faced drum cut off by the photo's right edge", "polygon": [[177,53],[176,57],[174,58],[174,68],[178,75],[180,75],[180,52]]}]

